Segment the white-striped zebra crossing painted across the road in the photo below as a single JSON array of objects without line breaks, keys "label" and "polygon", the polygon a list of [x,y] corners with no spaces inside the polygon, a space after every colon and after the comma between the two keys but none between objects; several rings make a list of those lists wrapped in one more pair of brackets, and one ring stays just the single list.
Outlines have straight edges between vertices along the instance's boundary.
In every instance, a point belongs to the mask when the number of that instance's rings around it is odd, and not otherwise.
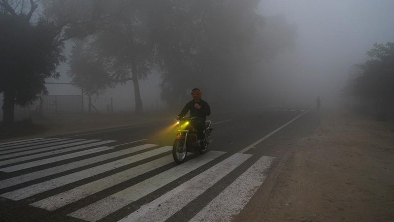
[{"label": "white-striped zebra crossing painted across the road", "polygon": [[[1,143],[0,171],[14,176],[0,180],[0,197],[24,201],[26,205],[46,211],[60,210],[69,217],[90,222],[120,211],[122,218],[114,221],[165,221],[253,156],[212,150],[177,165],[172,159],[171,146],[146,143],[119,148],[120,145],[107,145],[114,142],[117,141],[36,138]],[[76,157],[76,161],[72,161]],[[191,221],[230,221],[262,185],[273,159],[263,156],[254,160]],[[65,160],[65,164],[56,164]],[[204,168],[205,165],[209,166]],[[161,168],[162,171],[148,178],[138,179]],[[195,173],[201,168],[201,172]],[[24,173],[24,170],[28,171]],[[131,204],[188,175],[193,177],[175,183],[153,201],[143,202],[136,210],[124,213]],[[133,180],[136,182],[132,183]],[[120,189],[125,183],[130,186]],[[81,200],[86,199],[90,201],[81,204]]]}]

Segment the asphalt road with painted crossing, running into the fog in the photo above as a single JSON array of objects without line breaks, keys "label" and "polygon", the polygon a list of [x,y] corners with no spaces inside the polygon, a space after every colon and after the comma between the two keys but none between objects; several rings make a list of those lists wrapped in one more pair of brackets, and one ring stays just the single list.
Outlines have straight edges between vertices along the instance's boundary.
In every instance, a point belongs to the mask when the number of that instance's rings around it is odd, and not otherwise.
[{"label": "asphalt road with painted crossing, running into the fog", "polygon": [[0,144],[0,221],[229,221],[319,123],[293,108],[209,119],[210,152],[181,165],[168,120]]}]

